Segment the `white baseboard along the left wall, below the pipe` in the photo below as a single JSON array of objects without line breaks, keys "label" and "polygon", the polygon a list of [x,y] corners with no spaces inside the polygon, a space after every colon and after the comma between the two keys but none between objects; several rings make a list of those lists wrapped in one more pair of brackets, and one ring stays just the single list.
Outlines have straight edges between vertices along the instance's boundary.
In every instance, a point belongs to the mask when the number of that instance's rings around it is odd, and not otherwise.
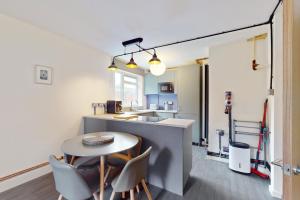
[{"label": "white baseboard along the left wall, below the pipe", "polygon": [[28,172],[26,174],[14,177],[12,179],[6,180],[0,184],[0,193],[6,190],[12,189],[18,185],[36,179],[40,176],[48,174],[51,172],[51,167],[49,165],[42,167],[40,169]]}]

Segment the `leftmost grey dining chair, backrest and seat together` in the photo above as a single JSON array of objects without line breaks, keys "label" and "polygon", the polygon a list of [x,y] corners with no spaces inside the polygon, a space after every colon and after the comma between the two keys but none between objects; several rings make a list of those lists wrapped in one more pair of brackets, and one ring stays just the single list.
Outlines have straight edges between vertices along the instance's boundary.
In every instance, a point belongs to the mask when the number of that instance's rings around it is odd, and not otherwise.
[{"label": "leftmost grey dining chair, backrest and seat together", "polygon": [[49,156],[49,163],[53,169],[56,190],[60,193],[59,200],[63,197],[69,200],[83,200],[94,196],[97,200],[99,190],[99,170],[75,169],[72,165],[60,162],[55,156]]}]

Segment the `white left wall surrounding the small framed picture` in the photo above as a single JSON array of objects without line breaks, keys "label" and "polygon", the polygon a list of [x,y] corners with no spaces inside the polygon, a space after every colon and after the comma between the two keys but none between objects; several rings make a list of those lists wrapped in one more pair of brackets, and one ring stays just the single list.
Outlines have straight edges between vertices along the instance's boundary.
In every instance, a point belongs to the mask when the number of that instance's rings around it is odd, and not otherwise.
[{"label": "white left wall surrounding the small framed picture", "polygon": [[[112,98],[110,57],[59,35],[0,15],[0,177],[62,155],[82,132],[92,102]],[[54,69],[53,85],[34,83],[34,66]],[[49,167],[0,183],[0,192]]]}]

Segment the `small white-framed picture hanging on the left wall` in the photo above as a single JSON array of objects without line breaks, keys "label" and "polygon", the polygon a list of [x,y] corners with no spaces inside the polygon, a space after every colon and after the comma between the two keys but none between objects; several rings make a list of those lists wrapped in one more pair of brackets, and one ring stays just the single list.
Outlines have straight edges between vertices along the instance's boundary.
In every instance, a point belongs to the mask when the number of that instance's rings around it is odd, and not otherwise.
[{"label": "small white-framed picture hanging on the left wall", "polygon": [[35,83],[52,84],[53,70],[52,67],[36,65],[35,66]]}]

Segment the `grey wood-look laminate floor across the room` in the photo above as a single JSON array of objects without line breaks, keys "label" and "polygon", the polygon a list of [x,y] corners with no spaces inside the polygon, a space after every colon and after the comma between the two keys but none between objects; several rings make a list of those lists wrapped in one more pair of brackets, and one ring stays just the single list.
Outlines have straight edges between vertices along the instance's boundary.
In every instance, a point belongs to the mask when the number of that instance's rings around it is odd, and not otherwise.
[{"label": "grey wood-look laminate floor across the room", "polygon": [[[205,159],[205,149],[193,147],[193,169],[183,197],[150,186],[156,200],[272,200],[269,181],[242,175],[228,169],[228,164]],[[106,189],[109,199],[111,188]],[[47,174],[0,194],[0,200],[54,200],[58,198],[52,174]],[[121,199],[116,196],[115,199]],[[146,200],[143,191],[137,200]]]}]

